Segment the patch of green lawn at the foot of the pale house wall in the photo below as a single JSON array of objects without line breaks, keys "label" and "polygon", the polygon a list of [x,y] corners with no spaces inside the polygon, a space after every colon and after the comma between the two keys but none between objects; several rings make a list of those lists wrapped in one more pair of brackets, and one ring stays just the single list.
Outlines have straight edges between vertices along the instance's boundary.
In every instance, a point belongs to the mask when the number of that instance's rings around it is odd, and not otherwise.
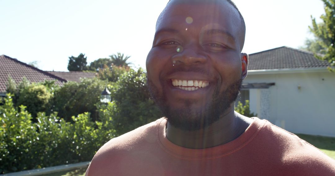
[{"label": "patch of green lawn at the foot of the pale house wall", "polygon": [[335,138],[323,137],[323,136],[312,136],[306,134],[296,134],[300,138],[304,139],[308,143],[319,148],[322,152],[335,159]]}]

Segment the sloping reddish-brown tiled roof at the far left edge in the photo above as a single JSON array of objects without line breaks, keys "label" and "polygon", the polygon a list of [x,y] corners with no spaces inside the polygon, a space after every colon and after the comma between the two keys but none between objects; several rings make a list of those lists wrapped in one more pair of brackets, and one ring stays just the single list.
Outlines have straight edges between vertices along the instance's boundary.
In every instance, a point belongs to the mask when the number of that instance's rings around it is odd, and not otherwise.
[{"label": "sloping reddish-brown tiled roof at the far left edge", "polygon": [[63,85],[65,79],[32,67],[26,63],[13,59],[6,55],[0,56],[0,93],[6,92],[8,76],[11,76],[16,83],[26,77],[30,82],[42,82],[44,80],[56,80],[56,84]]}]

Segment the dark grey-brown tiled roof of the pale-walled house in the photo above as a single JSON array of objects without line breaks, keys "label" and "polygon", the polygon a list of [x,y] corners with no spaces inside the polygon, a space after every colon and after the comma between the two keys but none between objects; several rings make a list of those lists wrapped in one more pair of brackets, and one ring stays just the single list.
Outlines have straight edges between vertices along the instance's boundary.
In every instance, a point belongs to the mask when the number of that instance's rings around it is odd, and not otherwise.
[{"label": "dark grey-brown tiled roof of the pale-walled house", "polygon": [[248,70],[325,68],[327,61],[314,57],[313,53],[286,46],[249,55]]}]

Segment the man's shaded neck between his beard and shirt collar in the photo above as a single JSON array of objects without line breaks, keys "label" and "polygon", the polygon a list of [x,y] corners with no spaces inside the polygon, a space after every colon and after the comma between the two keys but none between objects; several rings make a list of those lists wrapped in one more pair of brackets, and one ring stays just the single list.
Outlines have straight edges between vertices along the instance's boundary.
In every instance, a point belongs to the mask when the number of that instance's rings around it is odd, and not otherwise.
[{"label": "man's shaded neck between his beard and shirt collar", "polygon": [[169,122],[166,138],[172,143],[186,148],[209,148],[225,144],[239,137],[250,125],[251,120],[229,108],[220,119],[204,129],[184,131]]}]

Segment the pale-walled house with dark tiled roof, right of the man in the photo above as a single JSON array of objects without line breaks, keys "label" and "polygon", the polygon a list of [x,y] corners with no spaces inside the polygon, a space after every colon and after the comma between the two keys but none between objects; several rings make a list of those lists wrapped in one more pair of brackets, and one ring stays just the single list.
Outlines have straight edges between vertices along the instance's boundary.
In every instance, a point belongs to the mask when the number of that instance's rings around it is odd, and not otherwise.
[{"label": "pale-walled house with dark tiled roof, right of the man", "polygon": [[287,131],[335,137],[335,73],[327,66],[285,46],[250,54],[240,101]]}]

